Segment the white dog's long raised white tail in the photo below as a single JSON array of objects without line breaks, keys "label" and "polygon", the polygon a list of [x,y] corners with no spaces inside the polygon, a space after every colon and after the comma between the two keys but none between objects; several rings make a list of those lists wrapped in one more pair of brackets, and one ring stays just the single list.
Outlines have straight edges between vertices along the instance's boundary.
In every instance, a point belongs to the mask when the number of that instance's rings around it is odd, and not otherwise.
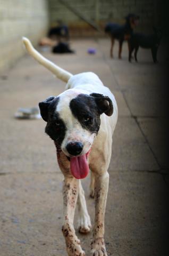
[{"label": "white dog's long raised white tail", "polygon": [[37,50],[35,50],[29,41],[28,38],[22,37],[22,41],[24,45],[26,46],[27,51],[29,54],[37,60],[41,65],[49,69],[53,74],[55,74],[59,79],[61,79],[64,82],[68,82],[69,78],[71,78],[73,75],[66,70],[58,67],[55,65],[52,61],[47,60],[43,55],[41,55]]}]

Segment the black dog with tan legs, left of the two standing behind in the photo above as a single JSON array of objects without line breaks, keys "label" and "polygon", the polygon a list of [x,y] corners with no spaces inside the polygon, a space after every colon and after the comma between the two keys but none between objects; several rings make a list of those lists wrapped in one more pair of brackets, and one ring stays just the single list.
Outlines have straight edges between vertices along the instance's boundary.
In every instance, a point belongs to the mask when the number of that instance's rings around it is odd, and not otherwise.
[{"label": "black dog with tan legs, left of the two standing behind", "polygon": [[125,17],[125,20],[126,22],[124,25],[108,23],[105,27],[105,33],[111,37],[111,58],[113,58],[114,39],[117,39],[119,41],[119,59],[121,59],[123,41],[129,40],[133,28],[137,26],[139,16],[130,13]]}]

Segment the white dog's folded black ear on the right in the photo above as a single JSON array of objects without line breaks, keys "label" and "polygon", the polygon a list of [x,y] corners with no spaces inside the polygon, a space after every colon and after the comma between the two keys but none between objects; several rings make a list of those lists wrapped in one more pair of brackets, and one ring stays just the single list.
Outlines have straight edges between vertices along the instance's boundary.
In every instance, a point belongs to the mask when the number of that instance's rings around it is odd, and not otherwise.
[{"label": "white dog's folded black ear on the right", "polygon": [[105,113],[107,116],[111,116],[113,114],[113,103],[108,96],[99,93],[91,93],[90,96],[94,97],[100,115]]}]

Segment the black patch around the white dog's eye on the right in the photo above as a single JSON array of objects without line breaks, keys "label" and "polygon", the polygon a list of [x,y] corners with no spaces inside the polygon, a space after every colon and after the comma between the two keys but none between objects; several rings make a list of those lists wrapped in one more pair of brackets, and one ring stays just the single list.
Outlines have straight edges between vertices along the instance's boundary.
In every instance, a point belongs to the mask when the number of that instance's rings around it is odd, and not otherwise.
[{"label": "black patch around the white dog's eye on the right", "polygon": [[98,133],[100,127],[100,114],[93,97],[79,94],[70,101],[70,109],[81,126],[91,133]]}]

